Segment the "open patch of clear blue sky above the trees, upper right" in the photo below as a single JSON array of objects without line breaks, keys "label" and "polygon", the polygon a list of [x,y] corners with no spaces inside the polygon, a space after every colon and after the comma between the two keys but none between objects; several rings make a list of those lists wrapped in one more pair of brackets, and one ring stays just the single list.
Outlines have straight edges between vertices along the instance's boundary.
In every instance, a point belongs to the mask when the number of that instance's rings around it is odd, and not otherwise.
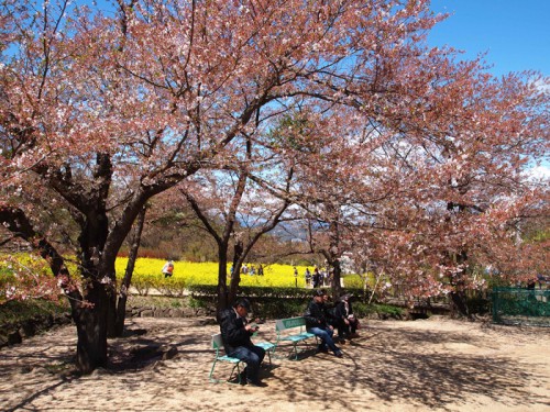
[{"label": "open patch of clear blue sky above the trees, upper right", "polygon": [[432,30],[430,45],[464,49],[468,59],[487,52],[496,76],[550,76],[550,0],[432,0],[431,9],[453,14]]}]

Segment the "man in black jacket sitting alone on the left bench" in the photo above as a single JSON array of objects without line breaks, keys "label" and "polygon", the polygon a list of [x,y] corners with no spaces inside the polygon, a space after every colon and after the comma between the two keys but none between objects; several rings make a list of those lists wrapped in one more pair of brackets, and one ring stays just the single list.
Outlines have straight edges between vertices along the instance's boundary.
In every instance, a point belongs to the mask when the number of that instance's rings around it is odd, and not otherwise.
[{"label": "man in black jacket sitting alone on the left bench", "polygon": [[260,365],[264,360],[265,350],[255,346],[251,336],[257,331],[257,325],[251,325],[246,322],[246,315],[250,311],[248,299],[238,299],[234,305],[222,311],[220,316],[220,332],[223,339],[226,354],[230,357],[241,359],[246,364],[242,375],[241,382],[254,387],[265,387],[260,381]]}]

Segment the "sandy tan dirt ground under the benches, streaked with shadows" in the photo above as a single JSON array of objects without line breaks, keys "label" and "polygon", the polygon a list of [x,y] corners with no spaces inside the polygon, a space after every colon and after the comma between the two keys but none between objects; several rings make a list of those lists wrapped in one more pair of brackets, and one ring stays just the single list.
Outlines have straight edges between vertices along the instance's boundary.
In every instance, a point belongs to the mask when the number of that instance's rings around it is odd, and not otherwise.
[{"label": "sandy tan dirt ground under the benches, streaked with shadows", "polygon": [[[343,358],[280,356],[262,369],[267,387],[253,388],[209,381],[219,329],[205,321],[131,319],[128,336],[110,341],[109,368],[84,377],[70,374],[74,326],[2,348],[0,410],[550,411],[548,327],[363,321]],[[275,341],[274,322],[261,331]]]}]

